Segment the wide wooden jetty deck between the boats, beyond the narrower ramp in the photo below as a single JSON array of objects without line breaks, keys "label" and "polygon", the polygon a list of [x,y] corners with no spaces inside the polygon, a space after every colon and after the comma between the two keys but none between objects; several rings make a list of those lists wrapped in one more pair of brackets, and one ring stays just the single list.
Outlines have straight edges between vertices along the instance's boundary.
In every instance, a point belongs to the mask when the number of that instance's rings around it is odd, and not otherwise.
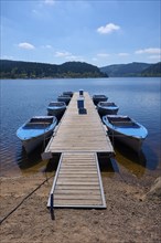
[{"label": "wide wooden jetty deck between the boats, beyond the narrower ramp", "polygon": [[94,151],[114,152],[105,128],[88,93],[84,94],[87,114],[78,114],[77,98],[74,96],[61,124],[51,138],[45,152]]}]

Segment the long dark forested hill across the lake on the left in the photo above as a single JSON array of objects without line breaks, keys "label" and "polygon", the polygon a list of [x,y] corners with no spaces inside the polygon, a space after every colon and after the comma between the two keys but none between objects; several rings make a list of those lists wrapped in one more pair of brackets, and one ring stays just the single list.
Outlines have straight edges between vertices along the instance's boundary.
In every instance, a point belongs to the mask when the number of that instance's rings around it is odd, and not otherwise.
[{"label": "long dark forested hill across the lake on the left", "polygon": [[0,61],[1,78],[108,77],[94,65],[66,62],[62,65],[21,61]]}]

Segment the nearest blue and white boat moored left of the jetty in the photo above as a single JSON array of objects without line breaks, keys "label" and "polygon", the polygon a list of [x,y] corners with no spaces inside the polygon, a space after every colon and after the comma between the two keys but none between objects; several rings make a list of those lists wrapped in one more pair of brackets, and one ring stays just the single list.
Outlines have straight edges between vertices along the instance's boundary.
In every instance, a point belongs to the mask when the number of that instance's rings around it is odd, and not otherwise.
[{"label": "nearest blue and white boat moored left of the jetty", "polygon": [[55,116],[34,116],[17,130],[17,136],[22,141],[25,151],[31,152],[51,137],[56,124]]}]

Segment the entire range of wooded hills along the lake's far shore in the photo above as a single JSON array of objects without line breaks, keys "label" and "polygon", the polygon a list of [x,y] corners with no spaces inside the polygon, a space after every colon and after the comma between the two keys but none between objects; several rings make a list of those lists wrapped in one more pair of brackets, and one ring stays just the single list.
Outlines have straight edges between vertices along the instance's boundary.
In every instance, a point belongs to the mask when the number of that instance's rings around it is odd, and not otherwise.
[{"label": "entire range of wooded hills along the lake's far shore", "polygon": [[66,62],[61,65],[0,60],[1,78],[58,78],[58,77],[137,77],[161,76],[161,62],[155,64],[115,64],[98,68],[85,62]]}]

